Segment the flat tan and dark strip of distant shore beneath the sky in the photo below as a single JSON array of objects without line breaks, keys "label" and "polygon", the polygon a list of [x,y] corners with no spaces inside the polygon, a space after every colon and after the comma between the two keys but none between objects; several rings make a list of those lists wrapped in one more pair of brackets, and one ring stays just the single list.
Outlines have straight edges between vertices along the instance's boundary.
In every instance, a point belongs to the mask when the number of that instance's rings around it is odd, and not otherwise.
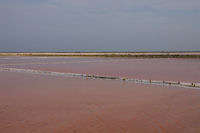
[{"label": "flat tan and dark strip of distant shore beneath the sky", "polygon": [[83,56],[130,58],[200,58],[200,52],[2,52],[0,56]]}]

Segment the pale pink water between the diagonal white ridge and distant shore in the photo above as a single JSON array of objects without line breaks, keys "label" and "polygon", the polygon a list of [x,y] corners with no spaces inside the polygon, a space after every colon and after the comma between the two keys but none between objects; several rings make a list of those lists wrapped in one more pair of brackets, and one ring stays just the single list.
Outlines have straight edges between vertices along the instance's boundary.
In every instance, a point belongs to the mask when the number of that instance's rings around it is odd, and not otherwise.
[{"label": "pale pink water between the diagonal white ridge and distant shore", "polygon": [[[22,58],[22,57],[21,57]],[[200,82],[199,59],[23,57],[0,59],[3,67],[88,73],[147,80]],[[7,65],[6,65],[7,64]]]}]

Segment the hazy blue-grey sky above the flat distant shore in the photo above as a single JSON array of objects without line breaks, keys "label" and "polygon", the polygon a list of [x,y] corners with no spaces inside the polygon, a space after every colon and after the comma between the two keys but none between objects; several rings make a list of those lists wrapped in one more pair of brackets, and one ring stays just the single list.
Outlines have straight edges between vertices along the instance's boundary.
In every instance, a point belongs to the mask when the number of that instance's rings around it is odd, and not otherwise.
[{"label": "hazy blue-grey sky above the flat distant shore", "polygon": [[0,52],[200,51],[200,0],[0,0]]}]

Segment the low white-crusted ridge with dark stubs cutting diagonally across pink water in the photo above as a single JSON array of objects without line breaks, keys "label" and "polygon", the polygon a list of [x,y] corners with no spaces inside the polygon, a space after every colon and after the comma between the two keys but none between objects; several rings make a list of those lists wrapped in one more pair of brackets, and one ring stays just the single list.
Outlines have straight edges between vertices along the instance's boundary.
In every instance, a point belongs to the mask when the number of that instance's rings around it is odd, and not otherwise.
[{"label": "low white-crusted ridge with dark stubs cutting diagonally across pink water", "polygon": [[104,80],[121,80],[133,83],[141,84],[155,84],[161,86],[178,86],[191,89],[200,89],[200,83],[185,83],[185,82],[174,82],[174,81],[159,81],[159,80],[145,80],[145,79],[132,79],[132,78],[122,78],[122,77],[113,77],[113,76],[102,76],[95,74],[80,74],[80,73],[64,73],[64,72],[51,72],[51,71],[41,71],[34,69],[18,69],[18,68],[4,68],[0,67],[0,71],[9,71],[9,72],[24,72],[31,74],[43,74],[43,75],[52,75],[52,76],[62,76],[62,77],[82,77],[82,78],[91,78],[91,79],[104,79]]}]

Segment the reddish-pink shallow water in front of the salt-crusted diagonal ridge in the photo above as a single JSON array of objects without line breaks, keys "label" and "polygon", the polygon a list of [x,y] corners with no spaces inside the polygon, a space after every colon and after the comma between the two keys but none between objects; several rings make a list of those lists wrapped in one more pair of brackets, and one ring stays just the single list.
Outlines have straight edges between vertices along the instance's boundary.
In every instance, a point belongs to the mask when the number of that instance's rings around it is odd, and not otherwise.
[{"label": "reddish-pink shallow water in front of the salt-crusted diagonal ridge", "polygon": [[0,72],[2,132],[200,132],[200,91]]}]

